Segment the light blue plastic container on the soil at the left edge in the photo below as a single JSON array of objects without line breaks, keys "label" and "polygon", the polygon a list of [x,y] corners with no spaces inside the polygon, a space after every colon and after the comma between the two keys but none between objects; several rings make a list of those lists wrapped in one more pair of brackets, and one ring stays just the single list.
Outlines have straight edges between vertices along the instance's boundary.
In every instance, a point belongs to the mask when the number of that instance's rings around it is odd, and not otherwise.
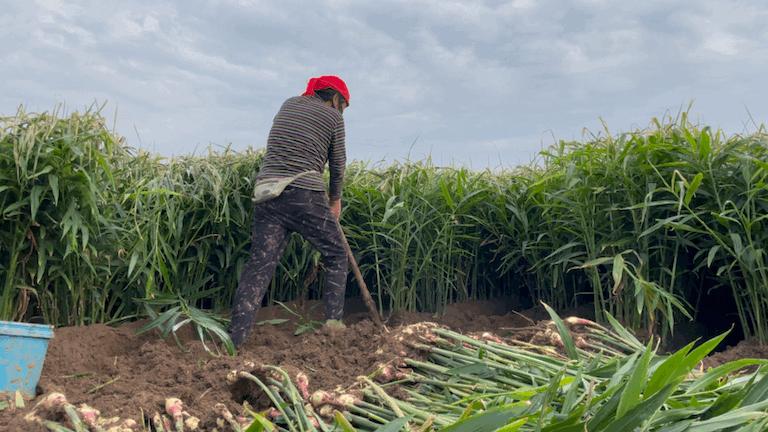
[{"label": "light blue plastic container on the soil at the left edge", "polygon": [[53,326],[0,321],[0,393],[35,397]]}]

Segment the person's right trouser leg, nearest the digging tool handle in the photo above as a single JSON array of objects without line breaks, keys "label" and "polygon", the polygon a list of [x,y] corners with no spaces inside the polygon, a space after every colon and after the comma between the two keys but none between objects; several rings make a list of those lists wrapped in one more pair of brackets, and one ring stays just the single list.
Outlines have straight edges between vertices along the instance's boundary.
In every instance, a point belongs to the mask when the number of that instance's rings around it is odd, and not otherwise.
[{"label": "person's right trouser leg, nearest the digging tool handle", "polygon": [[344,292],[347,288],[348,261],[336,218],[328,207],[323,192],[301,191],[304,199],[294,213],[289,228],[298,232],[323,255],[326,268],[325,318],[340,320],[344,316]]}]

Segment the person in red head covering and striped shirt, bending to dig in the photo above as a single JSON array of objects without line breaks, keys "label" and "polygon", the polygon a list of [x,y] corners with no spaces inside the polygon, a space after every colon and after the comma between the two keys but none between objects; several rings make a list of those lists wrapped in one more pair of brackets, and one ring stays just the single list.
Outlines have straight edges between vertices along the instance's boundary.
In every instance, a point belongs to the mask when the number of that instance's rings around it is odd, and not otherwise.
[{"label": "person in red head covering and striped shirt, bending to dig", "polygon": [[[255,191],[276,179],[290,183],[277,197],[254,204],[251,256],[240,275],[229,329],[235,346],[251,331],[289,232],[301,234],[323,255],[326,324],[343,327],[347,256],[337,220],[346,164],[342,113],[347,106],[344,81],[321,76],[309,80],[303,95],[286,100],[273,120]],[[322,176],[326,163],[327,194]]]}]

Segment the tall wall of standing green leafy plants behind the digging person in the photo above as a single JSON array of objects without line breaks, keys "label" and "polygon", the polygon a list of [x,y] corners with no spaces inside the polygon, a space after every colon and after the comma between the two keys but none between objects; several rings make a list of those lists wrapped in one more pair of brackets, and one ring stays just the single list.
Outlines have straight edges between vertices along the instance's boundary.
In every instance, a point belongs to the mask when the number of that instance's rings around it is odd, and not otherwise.
[{"label": "tall wall of standing green leafy plants behind the digging person", "polygon": [[[664,332],[727,290],[766,341],[766,144],[763,129],[725,136],[683,114],[505,172],[353,163],[342,224],[382,309],[503,294]],[[0,318],[113,321],[166,294],[228,308],[259,152],[161,159],[97,111],[20,111],[1,120],[0,150]],[[293,237],[270,299],[317,297],[322,270]]]}]

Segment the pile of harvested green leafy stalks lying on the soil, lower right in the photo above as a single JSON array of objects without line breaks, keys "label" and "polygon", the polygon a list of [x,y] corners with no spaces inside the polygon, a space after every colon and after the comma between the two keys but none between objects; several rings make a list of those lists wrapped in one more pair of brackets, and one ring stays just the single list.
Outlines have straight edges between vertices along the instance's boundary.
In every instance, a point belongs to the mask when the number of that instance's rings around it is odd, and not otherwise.
[{"label": "pile of harvested green leafy stalks lying on the soil, lower right", "polygon": [[[627,330],[613,327],[588,326],[579,334],[622,341]],[[621,349],[580,349],[566,358],[446,329],[427,332],[430,337],[423,329],[411,333],[411,345],[428,358],[404,359],[412,369],[403,369],[406,376],[397,381],[377,384],[362,377],[356,391],[363,399],[346,407],[346,420],[337,416],[337,425],[346,432],[692,432],[768,426],[768,360],[698,369],[725,334],[669,355],[658,354],[653,341],[646,346],[630,341]],[[565,328],[559,334],[563,340],[573,337]],[[509,379],[521,371],[529,382]],[[287,416],[283,422],[301,418]]]}]

